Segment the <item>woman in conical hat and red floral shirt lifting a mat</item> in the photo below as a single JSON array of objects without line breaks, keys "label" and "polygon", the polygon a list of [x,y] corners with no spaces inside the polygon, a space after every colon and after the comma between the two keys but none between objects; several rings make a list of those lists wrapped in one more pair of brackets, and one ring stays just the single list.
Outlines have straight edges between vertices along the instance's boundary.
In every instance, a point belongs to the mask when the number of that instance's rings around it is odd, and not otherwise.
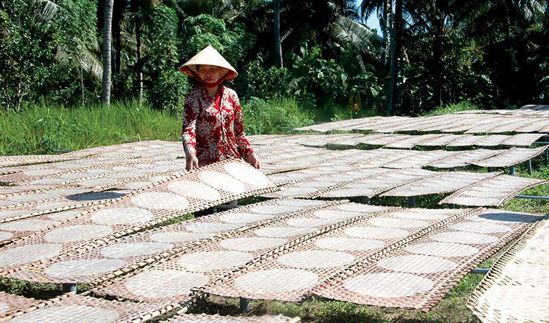
[{"label": "woman in conical hat and red floral shirt lifting a mat", "polygon": [[238,96],[221,84],[238,76],[231,64],[208,46],[183,64],[179,71],[198,80],[185,98],[183,113],[181,138],[187,170],[239,158],[259,169],[259,159],[244,134]]}]

